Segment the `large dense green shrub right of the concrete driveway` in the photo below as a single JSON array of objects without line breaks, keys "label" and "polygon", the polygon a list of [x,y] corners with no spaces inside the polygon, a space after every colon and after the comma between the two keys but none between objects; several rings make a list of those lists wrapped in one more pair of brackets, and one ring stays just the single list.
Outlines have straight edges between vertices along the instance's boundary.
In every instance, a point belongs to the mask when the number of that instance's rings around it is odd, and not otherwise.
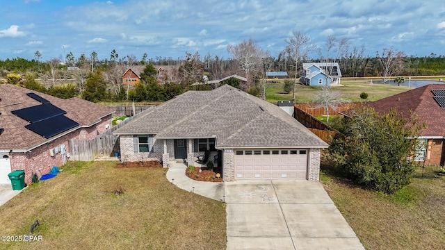
[{"label": "large dense green shrub right of the concrete driveway", "polygon": [[402,119],[395,110],[378,115],[362,107],[348,113],[335,126],[340,133],[329,147],[337,167],[348,178],[366,188],[385,193],[410,183],[414,162],[407,160],[416,149],[422,126],[416,117]]}]

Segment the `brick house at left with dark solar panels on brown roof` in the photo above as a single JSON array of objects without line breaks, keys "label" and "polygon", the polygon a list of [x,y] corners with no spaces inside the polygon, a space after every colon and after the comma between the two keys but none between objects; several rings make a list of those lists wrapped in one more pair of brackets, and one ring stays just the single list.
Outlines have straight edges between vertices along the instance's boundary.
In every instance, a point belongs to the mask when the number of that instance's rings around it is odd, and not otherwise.
[{"label": "brick house at left with dark solar panels on brown roof", "polygon": [[24,169],[26,183],[69,160],[70,139],[90,140],[106,131],[114,110],[79,98],[59,99],[0,84],[0,184]]}]

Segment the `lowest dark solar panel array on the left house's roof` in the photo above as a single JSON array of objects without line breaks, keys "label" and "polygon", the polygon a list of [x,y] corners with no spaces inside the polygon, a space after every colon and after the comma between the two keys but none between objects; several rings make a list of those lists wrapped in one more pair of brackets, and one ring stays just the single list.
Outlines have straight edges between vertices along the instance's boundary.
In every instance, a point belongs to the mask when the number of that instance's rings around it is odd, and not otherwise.
[{"label": "lowest dark solar panel array on the left house's roof", "polygon": [[79,123],[74,122],[72,119],[65,117],[63,115],[57,115],[49,119],[44,119],[40,122],[34,122],[32,124],[26,125],[34,133],[42,135],[44,138],[51,138],[54,135],[67,131],[70,128],[78,126]]}]

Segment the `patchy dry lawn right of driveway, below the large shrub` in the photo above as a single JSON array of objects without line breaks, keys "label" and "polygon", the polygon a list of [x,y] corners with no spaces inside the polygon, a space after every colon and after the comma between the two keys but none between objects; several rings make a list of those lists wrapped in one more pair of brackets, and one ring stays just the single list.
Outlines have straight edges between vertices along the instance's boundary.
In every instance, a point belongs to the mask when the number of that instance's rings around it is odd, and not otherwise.
[{"label": "patchy dry lawn right of driveway, below the large shrub", "polygon": [[366,249],[444,249],[445,178],[414,178],[396,194],[321,174],[325,189]]}]

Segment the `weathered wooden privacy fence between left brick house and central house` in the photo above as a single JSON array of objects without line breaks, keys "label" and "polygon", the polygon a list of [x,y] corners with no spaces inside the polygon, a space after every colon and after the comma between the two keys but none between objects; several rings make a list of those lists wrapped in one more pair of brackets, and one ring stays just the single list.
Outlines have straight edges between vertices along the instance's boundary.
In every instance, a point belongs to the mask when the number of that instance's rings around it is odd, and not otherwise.
[{"label": "weathered wooden privacy fence between left brick house and central house", "polygon": [[[154,107],[154,106],[152,106]],[[130,106],[131,108],[131,106]],[[149,112],[150,108],[143,110],[132,117],[124,119],[120,124],[113,126],[104,133],[97,135],[96,138],[91,140],[70,140],[70,160],[94,160],[96,156],[114,156],[119,151],[119,136],[113,135],[113,132],[131,122],[133,119],[140,117],[141,115]]]}]

